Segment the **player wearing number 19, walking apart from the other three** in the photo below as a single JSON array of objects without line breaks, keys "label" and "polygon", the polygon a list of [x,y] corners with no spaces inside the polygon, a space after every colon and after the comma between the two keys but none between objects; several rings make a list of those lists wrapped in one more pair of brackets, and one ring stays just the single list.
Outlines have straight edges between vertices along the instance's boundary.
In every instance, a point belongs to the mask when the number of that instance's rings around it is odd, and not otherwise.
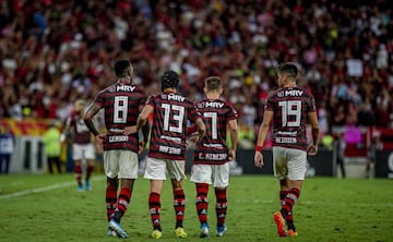
[{"label": "player wearing number 19, walking apart from the other three", "polygon": [[[294,63],[277,68],[279,88],[272,92],[266,100],[263,121],[255,145],[254,165],[263,166],[262,147],[273,122],[273,168],[279,180],[281,210],[273,218],[279,237],[297,235],[293,220],[293,208],[300,196],[306,174],[307,153],[318,153],[319,124],[314,97],[296,85],[298,70]],[[312,129],[312,143],[308,145],[306,124]],[[287,223],[287,231],[285,228]]]}]

